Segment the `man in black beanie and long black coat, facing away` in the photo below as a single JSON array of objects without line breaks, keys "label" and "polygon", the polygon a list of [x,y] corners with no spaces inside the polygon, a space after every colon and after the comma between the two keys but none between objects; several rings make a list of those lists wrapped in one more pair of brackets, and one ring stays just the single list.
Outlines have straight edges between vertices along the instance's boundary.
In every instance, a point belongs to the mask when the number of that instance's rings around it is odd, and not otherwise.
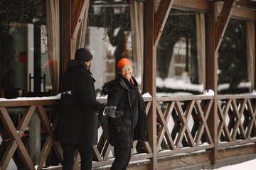
[{"label": "man in black beanie and long black coat, facing away", "polygon": [[91,64],[92,54],[88,50],[76,50],[75,60],[68,62],[60,82],[62,94],[55,141],[60,142],[63,148],[63,170],[73,169],[77,148],[81,157],[81,169],[92,169],[92,147],[97,144],[97,124],[103,123],[107,115],[116,113],[114,107],[107,107],[96,101]]}]

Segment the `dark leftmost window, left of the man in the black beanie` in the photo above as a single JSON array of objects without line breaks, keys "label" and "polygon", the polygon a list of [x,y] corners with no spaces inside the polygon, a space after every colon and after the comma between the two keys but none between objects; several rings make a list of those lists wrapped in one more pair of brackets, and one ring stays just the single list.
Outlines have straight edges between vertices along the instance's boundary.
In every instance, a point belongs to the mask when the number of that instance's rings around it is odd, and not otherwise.
[{"label": "dark leftmost window, left of the man in the black beanie", "polygon": [[49,91],[46,1],[0,1],[0,23],[0,89],[5,97]]}]

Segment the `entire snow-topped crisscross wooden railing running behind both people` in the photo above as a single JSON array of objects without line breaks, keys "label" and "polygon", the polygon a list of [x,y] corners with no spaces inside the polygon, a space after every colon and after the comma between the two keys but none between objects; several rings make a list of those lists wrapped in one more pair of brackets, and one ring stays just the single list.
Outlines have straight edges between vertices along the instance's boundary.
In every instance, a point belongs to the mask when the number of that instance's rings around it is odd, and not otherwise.
[{"label": "entire snow-topped crisscross wooden railing running behind both people", "polygon": [[[213,101],[217,105],[217,141],[215,145],[211,130],[208,125],[210,110]],[[107,99],[99,98],[98,101],[106,103]],[[144,98],[146,113],[149,113],[152,99]],[[51,121],[44,108],[58,106],[59,100],[31,100],[31,101],[1,101],[0,118],[11,140],[6,145],[4,154],[1,155],[1,169],[6,169],[11,157],[17,150],[24,166],[27,169],[42,169],[50,149],[54,149],[60,164],[63,162],[62,150],[58,142],[53,142],[55,121]],[[15,126],[9,116],[10,108],[22,107],[21,120]],[[21,137],[36,112],[41,124],[46,130],[46,142],[41,149],[41,154],[35,164],[24,147]],[[53,111],[53,114],[58,114]],[[255,95],[226,95],[217,96],[175,96],[156,98],[156,151],[149,142],[134,141],[131,161],[148,161],[156,154],[158,158],[169,157],[174,154],[189,154],[190,152],[214,149],[214,147],[232,147],[256,142],[256,96]],[[149,125],[149,124],[148,124]],[[151,125],[149,125],[151,126]],[[99,130],[98,145],[94,146],[94,168],[110,165],[113,162],[112,146],[107,140],[103,125]],[[218,149],[217,148],[217,149]],[[0,152],[1,153],[1,152]],[[76,167],[80,161],[79,154],[75,158]]]}]

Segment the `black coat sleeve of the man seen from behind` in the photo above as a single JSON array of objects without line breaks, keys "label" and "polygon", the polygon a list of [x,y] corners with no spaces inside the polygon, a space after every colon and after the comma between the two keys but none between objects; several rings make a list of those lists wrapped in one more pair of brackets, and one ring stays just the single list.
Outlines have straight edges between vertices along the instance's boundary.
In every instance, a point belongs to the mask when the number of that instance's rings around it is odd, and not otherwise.
[{"label": "black coat sleeve of the man seen from behind", "polygon": [[82,104],[92,111],[102,113],[105,109],[105,105],[98,102],[95,98],[94,81],[90,74],[80,73],[78,79],[78,93],[80,94]]}]

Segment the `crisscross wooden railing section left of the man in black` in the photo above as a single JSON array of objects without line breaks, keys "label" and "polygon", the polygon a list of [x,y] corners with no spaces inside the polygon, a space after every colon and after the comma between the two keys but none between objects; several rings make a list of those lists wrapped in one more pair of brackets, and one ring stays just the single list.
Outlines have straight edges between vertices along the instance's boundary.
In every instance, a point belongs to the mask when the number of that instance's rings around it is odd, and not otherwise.
[{"label": "crisscross wooden railing section left of the man in black", "polygon": [[[2,139],[9,138],[8,140],[2,140],[0,145],[0,169],[7,169],[11,162],[11,158],[14,157],[15,151],[18,152],[18,157],[21,159],[26,169],[42,169],[52,147],[60,162],[63,162],[60,144],[58,142],[53,142],[53,129],[55,122],[53,123],[49,120],[45,111],[49,106],[58,106],[58,104],[59,100],[55,99],[28,100],[28,98],[21,98],[19,100],[0,101],[1,137]],[[43,146],[39,148],[41,152],[35,163],[32,162],[32,159],[21,140],[34,112],[37,113],[46,135],[46,141]],[[14,122],[11,120],[10,117],[10,115],[14,113],[21,115],[21,119],[18,120],[17,123],[16,121]],[[56,112],[53,114],[56,114]],[[56,120],[57,119],[55,119],[55,121]],[[31,130],[34,129],[30,128],[30,131]],[[4,131],[6,131],[6,133],[4,133]]]}]

